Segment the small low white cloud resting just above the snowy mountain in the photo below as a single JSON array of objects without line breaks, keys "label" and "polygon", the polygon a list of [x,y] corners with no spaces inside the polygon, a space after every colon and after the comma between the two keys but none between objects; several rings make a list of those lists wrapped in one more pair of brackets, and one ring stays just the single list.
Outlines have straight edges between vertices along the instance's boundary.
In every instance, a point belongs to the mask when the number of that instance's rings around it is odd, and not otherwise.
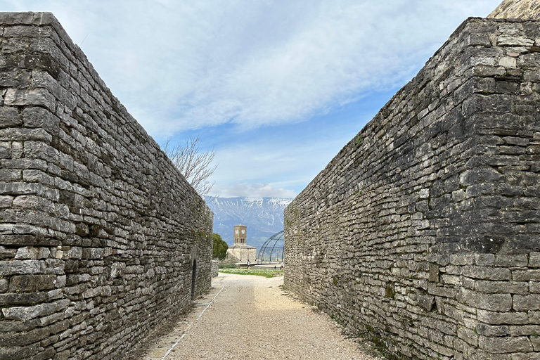
[{"label": "small low white cloud resting just above the snowy mountain", "polygon": [[294,198],[295,192],[284,188],[275,188],[270,184],[216,184],[212,188],[212,194],[219,198],[236,198],[248,196],[250,198]]}]

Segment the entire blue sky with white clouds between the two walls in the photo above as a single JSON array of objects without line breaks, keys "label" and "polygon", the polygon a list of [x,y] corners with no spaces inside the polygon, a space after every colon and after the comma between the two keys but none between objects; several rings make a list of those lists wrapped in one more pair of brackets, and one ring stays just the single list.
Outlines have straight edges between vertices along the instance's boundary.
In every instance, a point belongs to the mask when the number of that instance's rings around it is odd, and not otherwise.
[{"label": "entire blue sky with white clouds between the two walls", "polygon": [[500,0],[3,0],[51,11],[148,134],[200,136],[221,197],[293,198]]}]

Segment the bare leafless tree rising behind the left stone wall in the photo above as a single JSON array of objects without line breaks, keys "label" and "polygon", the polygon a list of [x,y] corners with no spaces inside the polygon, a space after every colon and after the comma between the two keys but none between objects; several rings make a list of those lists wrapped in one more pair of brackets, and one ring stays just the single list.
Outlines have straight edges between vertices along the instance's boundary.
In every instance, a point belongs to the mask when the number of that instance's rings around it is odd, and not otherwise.
[{"label": "bare leafless tree rising behind the left stone wall", "polygon": [[214,149],[201,152],[198,142],[199,136],[187,139],[185,145],[179,143],[171,146],[169,140],[165,143],[163,151],[199,195],[204,196],[214,186],[208,178],[217,168],[217,164],[212,165],[216,152]]}]

